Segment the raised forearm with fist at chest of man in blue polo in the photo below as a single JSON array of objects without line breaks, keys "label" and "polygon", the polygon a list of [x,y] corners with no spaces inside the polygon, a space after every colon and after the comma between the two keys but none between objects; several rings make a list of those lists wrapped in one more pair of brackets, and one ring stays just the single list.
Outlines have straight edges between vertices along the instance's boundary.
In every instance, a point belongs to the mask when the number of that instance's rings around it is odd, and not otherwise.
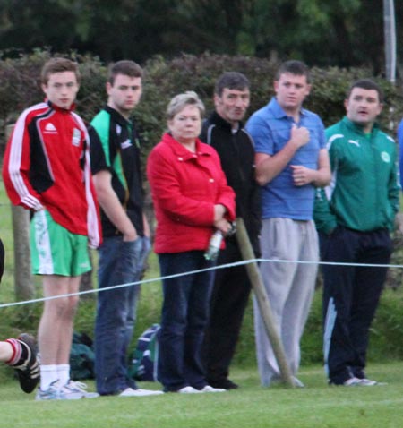
[{"label": "raised forearm with fist at chest of man in blue polo", "polygon": [[282,150],[275,155],[266,153],[256,153],[256,181],[260,185],[268,184],[279,173],[287,167],[288,162],[296,154],[296,150],[304,146],[309,141],[309,131],[304,128],[291,128],[290,139]]}]

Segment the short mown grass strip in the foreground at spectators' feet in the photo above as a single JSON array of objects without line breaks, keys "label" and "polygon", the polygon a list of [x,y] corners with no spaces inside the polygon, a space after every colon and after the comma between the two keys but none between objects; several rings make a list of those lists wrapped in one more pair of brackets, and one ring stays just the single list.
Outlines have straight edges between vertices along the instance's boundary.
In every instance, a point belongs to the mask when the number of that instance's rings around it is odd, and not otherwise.
[{"label": "short mown grass strip in the foreground at spectators' feet", "polygon": [[[144,398],[34,401],[7,381],[0,388],[0,424],[18,427],[145,428],[400,428],[403,426],[403,364],[373,364],[376,387],[330,387],[322,368],[304,367],[304,389],[262,389],[254,368],[234,370],[241,384],[219,394]],[[143,387],[159,388],[156,384]],[[93,389],[93,384],[90,384]]]}]

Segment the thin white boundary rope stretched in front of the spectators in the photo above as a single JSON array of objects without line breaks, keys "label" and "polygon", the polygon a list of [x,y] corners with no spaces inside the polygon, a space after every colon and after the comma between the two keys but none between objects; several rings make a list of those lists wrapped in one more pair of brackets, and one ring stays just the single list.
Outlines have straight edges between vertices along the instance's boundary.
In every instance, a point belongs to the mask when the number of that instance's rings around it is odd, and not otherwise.
[{"label": "thin white boundary rope stretched in front of the spectators", "polygon": [[144,279],[142,281],[135,281],[135,282],[128,282],[126,284],[118,284],[116,286],[111,287],[104,287],[104,288],[94,288],[91,290],[85,290],[85,291],[79,291],[77,293],[70,293],[66,295],[53,295],[50,297],[41,297],[38,299],[31,299],[31,300],[24,300],[20,302],[12,302],[9,304],[0,304],[1,308],[11,307],[11,306],[20,306],[22,304],[36,304],[39,302],[45,302],[47,300],[54,300],[59,299],[62,297],[71,297],[73,295],[90,295],[93,293],[99,293],[103,291],[113,290],[116,288],[123,288],[123,287],[131,287],[136,285],[142,285],[142,284],[149,284],[151,282],[157,282],[162,281],[164,279],[171,279],[171,278],[179,278],[184,277],[186,275],[193,275],[195,273],[201,273],[201,272],[207,272],[209,270],[218,270],[218,269],[226,269],[226,268],[232,268],[236,266],[243,266],[245,264],[250,263],[259,263],[259,262],[271,262],[271,263],[296,263],[296,264],[317,264],[317,265],[330,265],[330,266],[350,266],[350,267],[364,267],[364,268],[398,268],[402,269],[402,264],[367,264],[367,263],[340,263],[340,262],[334,262],[334,261],[291,261],[291,260],[279,260],[279,259],[251,259],[246,261],[236,261],[234,263],[227,263],[227,264],[221,264],[219,266],[213,266],[211,268],[205,268],[201,270],[190,270],[187,272],[177,273],[175,275],[168,275],[166,277],[158,277],[158,278],[150,278],[150,279]]}]

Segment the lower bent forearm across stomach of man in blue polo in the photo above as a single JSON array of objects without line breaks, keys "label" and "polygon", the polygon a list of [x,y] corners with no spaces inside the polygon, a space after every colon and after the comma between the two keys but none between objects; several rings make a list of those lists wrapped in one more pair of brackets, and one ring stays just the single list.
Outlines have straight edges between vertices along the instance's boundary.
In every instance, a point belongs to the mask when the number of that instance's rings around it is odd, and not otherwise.
[{"label": "lower bent forearm across stomach of man in blue polo", "polygon": [[330,160],[326,149],[319,150],[317,169],[310,169],[301,165],[291,165],[291,167],[293,168],[295,185],[313,184],[315,187],[323,187],[330,183]]}]

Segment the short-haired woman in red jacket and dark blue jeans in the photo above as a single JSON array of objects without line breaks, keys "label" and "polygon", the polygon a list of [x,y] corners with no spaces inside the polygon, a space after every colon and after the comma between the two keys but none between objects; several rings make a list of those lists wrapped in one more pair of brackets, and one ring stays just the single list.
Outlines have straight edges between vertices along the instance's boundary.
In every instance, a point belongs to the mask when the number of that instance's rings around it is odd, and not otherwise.
[{"label": "short-haired woman in red jacket and dark blue jeans", "polygon": [[[204,106],[194,92],[167,107],[169,132],[147,164],[157,218],[154,250],[163,277],[213,267],[204,258],[216,229],[224,235],[235,219],[235,193],[219,155],[197,137]],[[166,392],[219,392],[207,384],[201,344],[208,319],[214,270],[163,280],[159,381]]]}]

